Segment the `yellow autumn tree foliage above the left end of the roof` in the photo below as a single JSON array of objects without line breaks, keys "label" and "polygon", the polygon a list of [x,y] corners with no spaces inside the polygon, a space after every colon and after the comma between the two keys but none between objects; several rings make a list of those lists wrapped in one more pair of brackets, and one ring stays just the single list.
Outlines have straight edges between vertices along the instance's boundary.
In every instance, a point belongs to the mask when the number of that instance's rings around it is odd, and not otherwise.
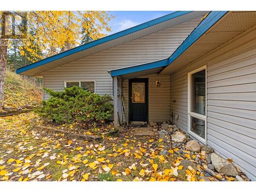
[{"label": "yellow autumn tree foliage above the left end of the roof", "polygon": [[28,11],[27,37],[8,40],[9,70],[104,37],[112,18],[106,11]]}]

